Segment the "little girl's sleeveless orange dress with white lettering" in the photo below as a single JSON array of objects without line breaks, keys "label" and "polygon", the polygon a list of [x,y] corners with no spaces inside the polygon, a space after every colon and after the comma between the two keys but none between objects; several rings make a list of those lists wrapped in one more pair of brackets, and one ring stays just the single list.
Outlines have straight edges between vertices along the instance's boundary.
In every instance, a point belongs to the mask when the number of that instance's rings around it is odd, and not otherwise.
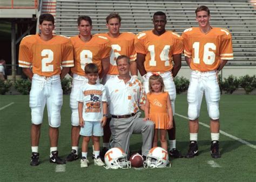
[{"label": "little girl's sleeveless orange dress with white lettering", "polygon": [[169,122],[169,115],[167,112],[167,98],[168,92],[154,95],[147,93],[147,99],[150,103],[149,117],[155,124],[155,129],[167,130],[167,124]]}]

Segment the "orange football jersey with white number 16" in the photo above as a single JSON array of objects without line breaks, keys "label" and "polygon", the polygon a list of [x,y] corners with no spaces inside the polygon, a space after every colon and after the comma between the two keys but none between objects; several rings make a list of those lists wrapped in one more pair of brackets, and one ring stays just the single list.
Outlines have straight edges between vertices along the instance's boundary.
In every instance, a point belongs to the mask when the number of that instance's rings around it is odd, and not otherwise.
[{"label": "orange football jersey with white number 16", "polygon": [[216,70],[220,65],[220,59],[233,59],[232,37],[226,29],[212,28],[209,32],[203,33],[199,27],[193,27],[186,29],[182,37],[184,55],[192,58],[192,70]]}]

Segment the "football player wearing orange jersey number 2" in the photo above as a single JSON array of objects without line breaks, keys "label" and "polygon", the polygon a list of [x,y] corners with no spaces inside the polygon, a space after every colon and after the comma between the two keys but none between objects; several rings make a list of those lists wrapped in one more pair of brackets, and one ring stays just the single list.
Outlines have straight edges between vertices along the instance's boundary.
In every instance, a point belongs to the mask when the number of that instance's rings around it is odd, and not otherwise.
[{"label": "football player wearing orange jersey number 2", "polygon": [[[32,80],[29,105],[31,108],[30,165],[39,164],[38,144],[45,104],[48,110],[50,162],[65,164],[58,157],[58,127],[63,91],[60,78],[73,66],[73,46],[68,37],[53,35],[55,20],[51,14],[39,17],[40,34],[26,36],[19,45],[19,66]],[[32,66],[32,70],[30,69]],[[61,67],[62,66],[62,70]]]}]

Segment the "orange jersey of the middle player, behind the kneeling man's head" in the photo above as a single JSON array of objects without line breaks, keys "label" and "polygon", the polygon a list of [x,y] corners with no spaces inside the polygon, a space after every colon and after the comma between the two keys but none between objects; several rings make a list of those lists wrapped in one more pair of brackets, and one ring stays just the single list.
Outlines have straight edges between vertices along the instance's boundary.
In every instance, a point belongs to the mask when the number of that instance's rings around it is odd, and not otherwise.
[{"label": "orange jersey of the middle player, behind the kneeling man's head", "polygon": [[130,32],[123,32],[117,38],[112,38],[108,33],[100,33],[110,40],[111,53],[110,53],[110,69],[107,74],[118,75],[116,59],[120,55],[126,55],[130,57],[131,61],[136,60],[136,51],[134,49],[134,37],[135,35]]}]

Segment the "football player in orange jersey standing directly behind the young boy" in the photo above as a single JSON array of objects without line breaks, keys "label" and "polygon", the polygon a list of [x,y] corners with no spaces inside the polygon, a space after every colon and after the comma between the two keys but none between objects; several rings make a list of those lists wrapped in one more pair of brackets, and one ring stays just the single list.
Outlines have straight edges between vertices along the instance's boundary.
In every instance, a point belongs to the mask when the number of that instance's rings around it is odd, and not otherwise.
[{"label": "football player in orange jersey standing directly behind the young boy", "polygon": [[[71,68],[73,83],[70,93],[72,148],[71,153],[66,158],[67,161],[78,159],[80,126],[77,95],[80,86],[88,82],[84,72],[85,65],[95,63],[99,69],[99,78],[103,78],[107,71],[109,71],[109,55],[111,51],[109,39],[104,36],[91,35],[92,20],[89,16],[79,16],[77,23],[79,35],[71,37],[75,55],[75,66]],[[99,82],[99,79],[97,82]]]}]

